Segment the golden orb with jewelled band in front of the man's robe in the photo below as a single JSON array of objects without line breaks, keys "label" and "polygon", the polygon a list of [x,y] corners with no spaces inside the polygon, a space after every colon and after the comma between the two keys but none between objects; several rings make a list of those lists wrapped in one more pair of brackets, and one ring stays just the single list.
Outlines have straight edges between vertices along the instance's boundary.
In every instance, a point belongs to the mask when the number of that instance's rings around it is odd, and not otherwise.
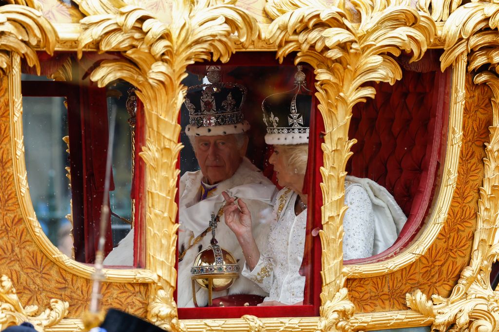
[{"label": "golden orb with jewelled band in front of the man's robe", "polygon": [[191,274],[201,287],[209,288],[211,280],[212,291],[220,292],[231,287],[239,277],[239,265],[230,252],[213,245],[196,256]]}]

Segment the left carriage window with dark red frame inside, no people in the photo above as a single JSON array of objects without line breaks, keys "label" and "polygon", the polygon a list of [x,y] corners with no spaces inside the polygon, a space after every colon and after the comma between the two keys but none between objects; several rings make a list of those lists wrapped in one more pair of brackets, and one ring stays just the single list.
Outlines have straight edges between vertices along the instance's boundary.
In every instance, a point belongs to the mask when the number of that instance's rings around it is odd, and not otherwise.
[{"label": "left carriage window with dark red frame inside, no people", "polygon": [[[46,64],[46,63],[45,63]],[[43,71],[42,63],[42,71]],[[31,200],[40,225],[62,253],[93,263],[103,197],[110,110],[117,109],[106,254],[132,238],[128,255],[108,265],[131,266],[135,225],[133,141],[135,98],[127,83],[99,89],[73,59],[72,79],[22,75],[23,131]],[[79,75],[79,76],[78,76]],[[133,103],[132,103],[133,104]]]}]

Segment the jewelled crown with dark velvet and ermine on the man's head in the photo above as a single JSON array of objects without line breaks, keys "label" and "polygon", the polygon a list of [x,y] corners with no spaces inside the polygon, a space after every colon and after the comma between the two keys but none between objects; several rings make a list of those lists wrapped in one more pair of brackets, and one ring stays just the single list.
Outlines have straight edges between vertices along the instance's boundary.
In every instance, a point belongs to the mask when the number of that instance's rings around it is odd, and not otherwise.
[{"label": "jewelled crown with dark velvet and ermine on the man's head", "polygon": [[238,83],[221,82],[221,66],[207,66],[210,84],[187,89],[189,136],[216,136],[244,133],[250,129],[242,111],[248,90]]}]

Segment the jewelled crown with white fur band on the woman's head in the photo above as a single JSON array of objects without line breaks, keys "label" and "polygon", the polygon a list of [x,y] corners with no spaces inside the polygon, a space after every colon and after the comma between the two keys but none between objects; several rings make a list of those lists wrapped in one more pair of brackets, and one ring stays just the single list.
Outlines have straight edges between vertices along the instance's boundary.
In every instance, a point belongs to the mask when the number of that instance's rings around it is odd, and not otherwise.
[{"label": "jewelled crown with white fur band on the woman's head", "polygon": [[301,69],[298,66],[292,90],[270,95],[261,103],[263,122],[267,127],[266,144],[308,143],[312,96]]}]

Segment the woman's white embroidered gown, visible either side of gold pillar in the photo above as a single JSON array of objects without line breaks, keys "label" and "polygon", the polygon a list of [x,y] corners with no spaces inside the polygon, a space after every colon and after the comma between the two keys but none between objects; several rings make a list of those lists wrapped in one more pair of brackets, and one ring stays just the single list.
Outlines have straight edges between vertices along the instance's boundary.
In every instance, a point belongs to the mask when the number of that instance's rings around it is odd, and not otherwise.
[{"label": "woman's white embroidered gown, visible either side of gold pillar", "polygon": [[[296,304],[303,301],[305,277],[299,274],[305,245],[306,210],[294,213],[297,194],[283,188],[277,194],[267,246],[250,271],[245,263],[243,276],[255,282],[268,296],[264,301]],[[349,206],[343,219],[343,259],[372,256],[374,214],[364,188],[345,181],[345,204]]]}]

